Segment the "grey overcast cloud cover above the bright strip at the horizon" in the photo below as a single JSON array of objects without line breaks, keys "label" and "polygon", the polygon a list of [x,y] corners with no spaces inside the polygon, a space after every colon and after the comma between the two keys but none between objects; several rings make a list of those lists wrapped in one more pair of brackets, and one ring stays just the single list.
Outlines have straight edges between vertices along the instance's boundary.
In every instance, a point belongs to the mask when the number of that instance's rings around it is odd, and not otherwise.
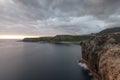
[{"label": "grey overcast cloud cover above the bright strip at the horizon", "polygon": [[88,34],[120,26],[120,0],[0,0],[0,34]]}]

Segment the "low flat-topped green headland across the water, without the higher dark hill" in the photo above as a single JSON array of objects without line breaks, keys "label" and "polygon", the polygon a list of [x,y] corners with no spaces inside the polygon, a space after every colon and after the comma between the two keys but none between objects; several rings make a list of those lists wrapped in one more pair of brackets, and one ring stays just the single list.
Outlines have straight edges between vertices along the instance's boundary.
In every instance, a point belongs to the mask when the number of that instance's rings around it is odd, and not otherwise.
[{"label": "low flat-topped green headland across the water, without the higher dark hill", "polygon": [[56,35],[54,37],[39,37],[39,38],[24,38],[24,42],[39,42],[39,41],[45,41],[45,42],[72,42],[72,43],[80,43],[81,41],[86,41],[93,37],[92,35]]}]

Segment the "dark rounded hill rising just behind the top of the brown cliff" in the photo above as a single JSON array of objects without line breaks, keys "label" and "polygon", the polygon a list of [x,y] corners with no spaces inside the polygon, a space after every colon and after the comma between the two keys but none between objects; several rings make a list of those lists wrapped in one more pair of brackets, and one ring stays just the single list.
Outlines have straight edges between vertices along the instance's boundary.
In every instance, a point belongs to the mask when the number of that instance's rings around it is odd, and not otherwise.
[{"label": "dark rounded hill rising just behind the top of the brown cliff", "polygon": [[110,33],[118,33],[118,32],[120,32],[120,27],[107,28],[107,29],[99,32],[98,35],[101,35],[101,34],[110,34]]}]

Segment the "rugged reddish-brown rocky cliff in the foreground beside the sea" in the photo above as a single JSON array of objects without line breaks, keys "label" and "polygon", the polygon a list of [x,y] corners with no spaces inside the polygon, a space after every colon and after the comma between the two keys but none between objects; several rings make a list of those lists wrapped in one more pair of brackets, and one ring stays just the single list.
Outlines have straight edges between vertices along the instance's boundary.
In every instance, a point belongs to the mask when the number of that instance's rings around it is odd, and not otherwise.
[{"label": "rugged reddish-brown rocky cliff in the foreground beside the sea", "polygon": [[81,62],[97,80],[120,80],[120,34],[96,36],[83,43]]}]

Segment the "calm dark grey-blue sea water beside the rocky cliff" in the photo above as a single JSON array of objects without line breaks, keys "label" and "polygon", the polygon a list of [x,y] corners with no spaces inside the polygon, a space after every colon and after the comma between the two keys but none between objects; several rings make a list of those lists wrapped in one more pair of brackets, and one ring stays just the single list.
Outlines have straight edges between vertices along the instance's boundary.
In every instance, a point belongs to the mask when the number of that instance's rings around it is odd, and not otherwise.
[{"label": "calm dark grey-blue sea water beside the rocky cliff", "polygon": [[79,45],[0,40],[0,80],[90,80]]}]

